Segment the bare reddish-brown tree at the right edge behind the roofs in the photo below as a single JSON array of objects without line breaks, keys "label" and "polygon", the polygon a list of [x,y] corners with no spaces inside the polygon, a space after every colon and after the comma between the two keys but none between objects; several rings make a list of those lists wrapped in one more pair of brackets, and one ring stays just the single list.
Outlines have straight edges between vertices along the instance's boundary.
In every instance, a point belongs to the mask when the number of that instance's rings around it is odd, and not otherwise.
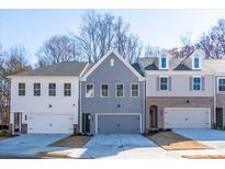
[{"label": "bare reddish-brown tree at the right edge behind the roofs", "polygon": [[203,49],[206,58],[222,58],[225,56],[225,19],[217,21],[209,33],[203,33],[195,44],[196,48]]}]

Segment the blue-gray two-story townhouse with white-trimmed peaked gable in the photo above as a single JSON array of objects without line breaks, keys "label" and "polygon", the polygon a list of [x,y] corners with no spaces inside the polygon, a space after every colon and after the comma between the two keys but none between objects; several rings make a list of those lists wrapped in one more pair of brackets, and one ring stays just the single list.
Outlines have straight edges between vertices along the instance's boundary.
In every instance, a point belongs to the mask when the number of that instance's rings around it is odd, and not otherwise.
[{"label": "blue-gray two-story townhouse with white-trimmed peaked gable", "polygon": [[89,66],[80,91],[81,133],[144,132],[145,78],[116,50]]}]

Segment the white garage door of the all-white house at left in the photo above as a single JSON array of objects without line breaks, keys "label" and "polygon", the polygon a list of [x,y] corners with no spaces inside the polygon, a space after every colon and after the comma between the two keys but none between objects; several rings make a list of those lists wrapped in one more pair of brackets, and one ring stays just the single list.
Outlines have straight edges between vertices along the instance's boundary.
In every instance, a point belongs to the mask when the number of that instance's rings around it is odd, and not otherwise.
[{"label": "white garage door of the all-white house at left", "polygon": [[29,133],[71,134],[72,115],[30,115]]}]

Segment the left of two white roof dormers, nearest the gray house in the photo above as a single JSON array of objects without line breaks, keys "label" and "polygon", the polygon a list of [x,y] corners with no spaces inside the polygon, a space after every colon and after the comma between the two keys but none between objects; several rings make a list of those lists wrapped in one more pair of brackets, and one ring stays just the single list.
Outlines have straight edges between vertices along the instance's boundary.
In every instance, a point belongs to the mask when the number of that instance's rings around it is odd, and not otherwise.
[{"label": "left of two white roof dormers, nearest the gray house", "polygon": [[171,55],[167,52],[162,52],[158,55],[158,68],[159,70],[168,70],[169,69],[169,60],[171,58]]}]

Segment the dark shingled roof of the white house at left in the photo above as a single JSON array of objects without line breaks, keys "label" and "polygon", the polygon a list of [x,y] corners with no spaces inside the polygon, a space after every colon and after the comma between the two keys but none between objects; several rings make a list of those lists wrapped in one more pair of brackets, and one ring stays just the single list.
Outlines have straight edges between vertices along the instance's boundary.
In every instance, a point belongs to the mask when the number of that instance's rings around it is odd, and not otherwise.
[{"label": "dark shingled roof of the white house at left", "polygon": [[88,63],[65,61],[41,67],[33,70],[22,71],[9,77],[44,76],[44,77],[79,77]]}]

